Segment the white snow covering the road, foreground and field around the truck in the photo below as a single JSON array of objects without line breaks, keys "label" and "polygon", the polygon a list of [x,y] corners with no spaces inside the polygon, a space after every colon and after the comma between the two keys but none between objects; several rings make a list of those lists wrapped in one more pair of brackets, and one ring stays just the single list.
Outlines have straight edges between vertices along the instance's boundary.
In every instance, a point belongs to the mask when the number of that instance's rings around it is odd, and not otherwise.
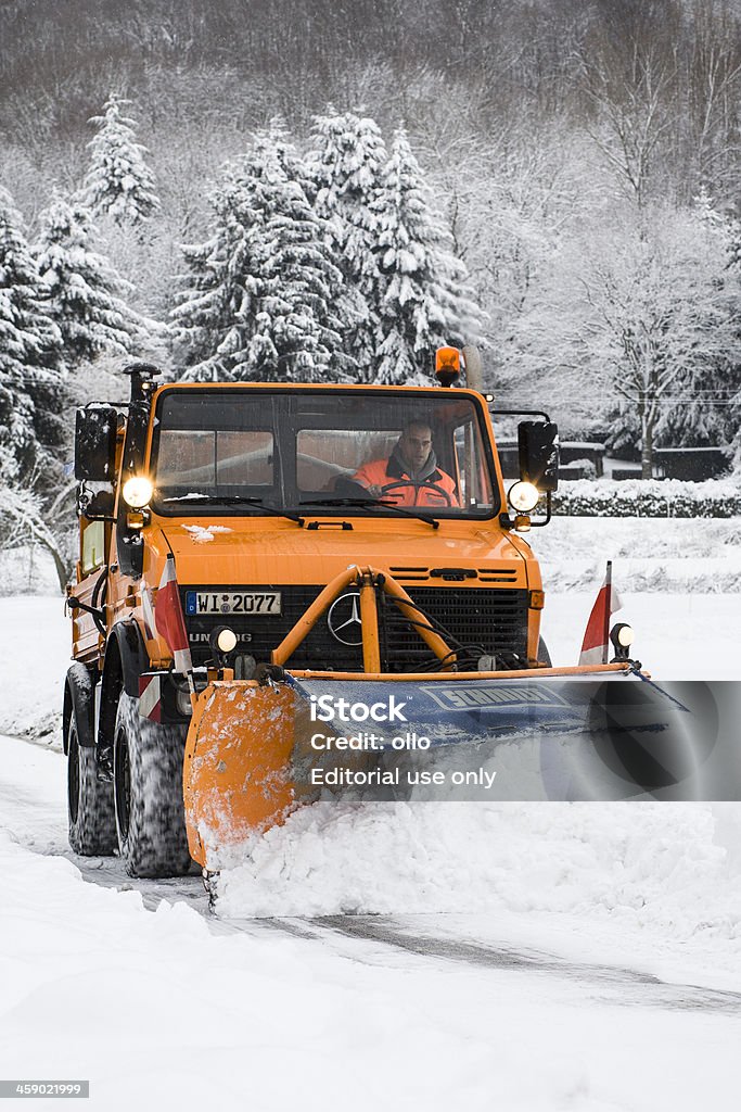
[{"label": "white snow covering the road, foreground and field around the truck", "polygon": [[[533,533],[554,661],[575,662],[610,556],[654,675],[737,679],[738,537]],[[0,627],[0,728],[37,742],[0,738],[0,1078],[89,1078],[104,1112],[738,1105],[739,806],[321,805],[222,880],[214,917],[198,876],[69,853],[42,735],[61,600],[2,598]]]}]

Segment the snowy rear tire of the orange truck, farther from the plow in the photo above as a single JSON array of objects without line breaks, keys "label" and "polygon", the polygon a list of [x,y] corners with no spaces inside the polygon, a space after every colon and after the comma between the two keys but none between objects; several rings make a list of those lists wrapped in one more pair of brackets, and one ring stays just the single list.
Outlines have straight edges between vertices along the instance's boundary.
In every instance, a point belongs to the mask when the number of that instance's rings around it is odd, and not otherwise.
[{"label": "snowy rear tire of the orange truck, farther from the plow", "polygon": [[118,845],[113,785],[98,780],[96,748],[80,745],[74,709],[67,731],[67,805],[69,840],[82,857],[102,857]]}]

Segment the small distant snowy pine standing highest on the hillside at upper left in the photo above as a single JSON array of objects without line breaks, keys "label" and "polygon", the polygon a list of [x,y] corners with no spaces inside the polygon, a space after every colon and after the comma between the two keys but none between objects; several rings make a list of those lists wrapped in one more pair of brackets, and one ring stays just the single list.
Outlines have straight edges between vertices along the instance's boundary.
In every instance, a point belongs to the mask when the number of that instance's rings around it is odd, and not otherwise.
[{"label": "small distant snowy pine standing highest on the hillside at upper left", "polygon": [[90,119],[98,133],[88,143],[91,159],[82,193],[94,216],[108,215],[119,225],[138,225],[160,208],[147,148],[137,142],[134,121],[121,115],[130,103],[111,93],[103,115]]}]

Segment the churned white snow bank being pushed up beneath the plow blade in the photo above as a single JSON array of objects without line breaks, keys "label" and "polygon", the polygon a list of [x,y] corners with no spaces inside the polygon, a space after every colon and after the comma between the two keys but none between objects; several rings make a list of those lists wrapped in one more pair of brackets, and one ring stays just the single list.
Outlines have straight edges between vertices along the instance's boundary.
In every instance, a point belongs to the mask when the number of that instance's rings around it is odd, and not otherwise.
[{"label": "churned white snow bank being pushed up beneath the plow blade", "polygon": [[568,912],[741,957],[734,813],[718,845],[710,804],[321,803],[222,874],[219,913]]}]

